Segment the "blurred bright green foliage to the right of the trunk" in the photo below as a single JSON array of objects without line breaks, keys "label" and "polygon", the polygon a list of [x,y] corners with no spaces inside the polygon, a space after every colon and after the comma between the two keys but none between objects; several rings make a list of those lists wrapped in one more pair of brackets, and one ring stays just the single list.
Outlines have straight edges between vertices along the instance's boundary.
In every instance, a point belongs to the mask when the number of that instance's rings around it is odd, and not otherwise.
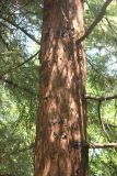
[{"label": "blurred bright green foliage to the right of the trunk", "polygon": [[[98,3],[98,6],[95,6]],[[86,4],[87,6],[87,4]],[[89,19],[97,14],[100,1],[89,1]],[[103,21],[86,40],[87,84],[86,91],[100,97],[112,96],[117,92],[117,58],[115,33],[117,31],[116,14],[113,2]],[[96,14],[95,14],[96,13]],[[87,21],[86,19],[86,21]],[[85,28],[91,22],[85,23]],[[98,112],[98,102],[87,100],[87,140],[90,143],[116,142],[117,136],[117,106],[116,100],[103,101]],[[101,117],[98,116],[101,113]],[[101,119],[100,119],[101,118]],[[101,124],[101,120],[102,123]],[[117,154],[114,148],[90,150],[90,176],[116,176]]]}]

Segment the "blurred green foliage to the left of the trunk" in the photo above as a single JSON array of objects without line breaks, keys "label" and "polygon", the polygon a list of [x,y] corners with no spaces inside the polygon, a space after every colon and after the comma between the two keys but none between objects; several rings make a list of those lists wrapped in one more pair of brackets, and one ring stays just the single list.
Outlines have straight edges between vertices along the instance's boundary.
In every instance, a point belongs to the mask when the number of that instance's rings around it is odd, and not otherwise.
[{"label": "blurred green foliage to the left of the trunk", "polygon": [[38,48],[9,20],[39,36],[40,11],[36,0],[0,2],[0,174],[34,175],[38,56],[26,61]]}]

